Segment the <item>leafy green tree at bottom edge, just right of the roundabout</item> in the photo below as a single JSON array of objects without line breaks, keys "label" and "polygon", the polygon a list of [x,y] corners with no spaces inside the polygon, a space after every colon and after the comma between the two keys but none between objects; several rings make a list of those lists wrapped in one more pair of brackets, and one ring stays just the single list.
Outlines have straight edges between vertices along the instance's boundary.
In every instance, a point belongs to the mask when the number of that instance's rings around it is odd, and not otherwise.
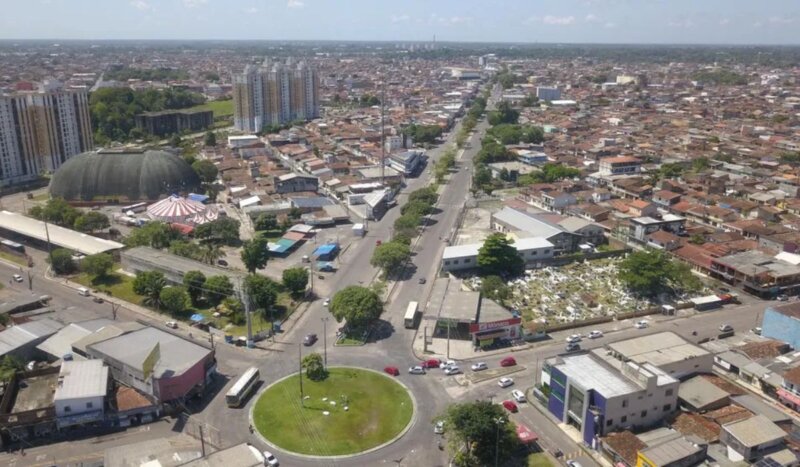
[{"label": "leafy green tree at bottom edge, just right of the roundabout", "polygon": [[448,433],[448,448],[456,465],[494,465],[519,448],[514,424],[499,404],[489,401],[452,404],[439,417]]}]

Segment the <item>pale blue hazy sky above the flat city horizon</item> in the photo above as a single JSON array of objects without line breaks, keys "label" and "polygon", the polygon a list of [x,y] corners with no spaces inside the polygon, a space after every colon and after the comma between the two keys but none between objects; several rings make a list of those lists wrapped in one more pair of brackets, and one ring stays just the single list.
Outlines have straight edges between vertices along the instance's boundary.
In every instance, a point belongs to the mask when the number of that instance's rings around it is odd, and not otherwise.
[{"label": "pale blue hazy sky above the flat city horizon", "polygon": [[0,0],[0,12],[0,39],[800,43],[800,0]]}]

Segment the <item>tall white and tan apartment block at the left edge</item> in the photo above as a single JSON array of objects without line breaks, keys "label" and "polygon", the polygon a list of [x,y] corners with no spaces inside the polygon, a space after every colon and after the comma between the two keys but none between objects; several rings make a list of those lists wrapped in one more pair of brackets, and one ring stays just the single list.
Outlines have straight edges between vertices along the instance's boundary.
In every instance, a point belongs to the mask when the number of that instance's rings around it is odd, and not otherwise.
[{"label": "tall white and tan apartment block at the left edge", "polygon": [[86,91],[52,81],[37,92],[0,96],[0,186],[54,172],[93,145]]}]

